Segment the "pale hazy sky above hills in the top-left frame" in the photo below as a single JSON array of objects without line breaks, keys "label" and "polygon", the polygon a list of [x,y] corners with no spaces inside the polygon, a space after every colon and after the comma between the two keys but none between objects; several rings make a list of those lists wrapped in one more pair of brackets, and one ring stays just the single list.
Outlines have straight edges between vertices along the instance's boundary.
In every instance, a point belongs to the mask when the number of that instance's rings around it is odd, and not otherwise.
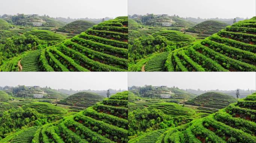
[{"label": "pale hazy sky above hills in the top-left frame", "polygon": [[17,13],[67,18],[126,16],[127,0],[1,0],[0,15]]}]

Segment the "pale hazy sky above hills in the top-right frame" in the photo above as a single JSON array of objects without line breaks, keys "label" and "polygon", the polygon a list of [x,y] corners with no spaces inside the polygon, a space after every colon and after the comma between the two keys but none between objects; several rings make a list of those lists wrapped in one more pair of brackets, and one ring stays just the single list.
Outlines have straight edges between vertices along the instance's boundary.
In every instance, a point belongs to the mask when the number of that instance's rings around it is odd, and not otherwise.
[{"label": "pale hazy sky above hills in the top-right frame", "polygon": [[252,18],[255,0],[128,0],[128,14],[179,15],[193,18]]}]

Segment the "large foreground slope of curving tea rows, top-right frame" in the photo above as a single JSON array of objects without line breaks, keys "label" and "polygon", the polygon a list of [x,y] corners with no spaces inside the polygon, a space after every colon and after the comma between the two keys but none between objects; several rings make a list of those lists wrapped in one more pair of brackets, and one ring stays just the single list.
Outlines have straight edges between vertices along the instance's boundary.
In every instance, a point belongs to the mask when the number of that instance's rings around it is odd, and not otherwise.
[{"label": "large foreground slope of curving tea rows, top-right frame", "polygon": [[256,71],[256,17],[168,55],[168,71]]}]

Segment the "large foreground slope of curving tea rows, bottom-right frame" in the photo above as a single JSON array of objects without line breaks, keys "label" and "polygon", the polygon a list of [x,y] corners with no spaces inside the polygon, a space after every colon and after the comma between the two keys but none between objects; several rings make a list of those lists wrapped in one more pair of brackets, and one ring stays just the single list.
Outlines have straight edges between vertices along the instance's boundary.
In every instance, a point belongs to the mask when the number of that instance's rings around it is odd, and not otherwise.
[{"label": "large foreground slope of curving tea rows, bottom-right frame", "polygon": [[[161,132],[161,135],[148,139],[147,143],[255,143],[255,99],[254,93],[215,114],[176,128],[169,128],[164,133]],[[137,138],[145,140],[146,136]]]}]

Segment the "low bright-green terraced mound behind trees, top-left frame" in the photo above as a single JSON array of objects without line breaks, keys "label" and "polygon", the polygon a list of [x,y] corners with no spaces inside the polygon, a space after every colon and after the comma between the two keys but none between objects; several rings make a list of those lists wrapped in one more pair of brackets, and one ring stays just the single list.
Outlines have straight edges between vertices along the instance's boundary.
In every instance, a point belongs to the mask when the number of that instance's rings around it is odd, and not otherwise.
[{"label": "low bright-green terraced mound behind trees, top-left frame", "polygon": [[63,40],[65,40],[64,36],[62,36],[60,34],[56,34],[54,32],[48,31],[48,30],[31,30],[31,31],[26,32],[24,35],[25,36],[35,35],[40,40],[44,40],[44,41],[62,42]]}]

